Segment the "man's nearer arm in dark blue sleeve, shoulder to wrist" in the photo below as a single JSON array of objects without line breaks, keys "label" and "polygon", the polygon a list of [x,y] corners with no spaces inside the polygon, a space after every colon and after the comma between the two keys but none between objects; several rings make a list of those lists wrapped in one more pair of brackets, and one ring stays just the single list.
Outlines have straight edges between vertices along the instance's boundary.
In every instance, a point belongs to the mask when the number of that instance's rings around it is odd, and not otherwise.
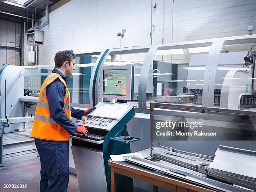
[{"label": "man's nearer arm in dark blue sleeve, shoulder to wrist", "polygon": [[46,96],[49,102],[51,118],[64,127],[71,135],[77,130],[77,125],[67,117],[67,114],[63,110],[65,93],[66,87],[59,79],[56,79],[46,87]]}]

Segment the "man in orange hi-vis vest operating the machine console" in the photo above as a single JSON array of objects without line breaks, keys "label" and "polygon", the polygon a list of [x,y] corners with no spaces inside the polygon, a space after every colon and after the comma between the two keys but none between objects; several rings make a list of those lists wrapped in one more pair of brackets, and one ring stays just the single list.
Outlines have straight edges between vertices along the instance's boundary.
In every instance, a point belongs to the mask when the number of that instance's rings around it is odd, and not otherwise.
[{"label": "man in orange hi-vis vest operating the machine console", "polygon": [[40,192],[65,192],[69,183],[69,136],[75,131],[87,134],[71,118],[90,113],[70,107],[66,77],[75,70],[76,56],[71,51],[56,53],[55,68],[44,80],[36,107],[31,137],[40,155]]}]

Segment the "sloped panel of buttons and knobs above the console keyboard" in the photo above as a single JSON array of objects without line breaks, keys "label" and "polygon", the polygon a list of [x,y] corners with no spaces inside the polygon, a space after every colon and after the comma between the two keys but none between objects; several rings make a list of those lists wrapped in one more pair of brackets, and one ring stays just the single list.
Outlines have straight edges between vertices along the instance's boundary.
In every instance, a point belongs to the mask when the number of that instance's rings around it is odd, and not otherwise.
[{"label": "sloped panel of buttons and knobs above the console keyboard", "polygon": [[118,120],[113,118],[104,118],[104,117],[97,117],[93,115],[86,115],[82,116],[81,120],[76,120],[77,125],[83,125],[89,128],[96,128],[96,129],[104,129],[110,130],[112,129]]}]

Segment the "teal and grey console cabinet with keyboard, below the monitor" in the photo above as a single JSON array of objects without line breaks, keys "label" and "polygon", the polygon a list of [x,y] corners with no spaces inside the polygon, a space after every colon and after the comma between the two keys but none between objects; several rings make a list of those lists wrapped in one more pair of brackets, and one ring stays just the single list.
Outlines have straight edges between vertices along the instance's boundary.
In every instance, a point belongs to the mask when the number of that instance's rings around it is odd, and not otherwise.
[{"label": "teal and grey console cabinet with keyboard, below the monitor", "polygon": [[[132,104],[99,102],[90,115],[77,119],[77,125],[83,125],[92,136],[104,137],[97,141],[82,134],[72,135],[72,154],[77,172],[80,191],[110,192],[110,155],[130,153],[128,142],[115,138],[128,136],[126,124],[135,115]],[[133,180],[118,176],[118,187],[125,186],[133,191]],[[97,183],[97,185],[95,185]]]}]

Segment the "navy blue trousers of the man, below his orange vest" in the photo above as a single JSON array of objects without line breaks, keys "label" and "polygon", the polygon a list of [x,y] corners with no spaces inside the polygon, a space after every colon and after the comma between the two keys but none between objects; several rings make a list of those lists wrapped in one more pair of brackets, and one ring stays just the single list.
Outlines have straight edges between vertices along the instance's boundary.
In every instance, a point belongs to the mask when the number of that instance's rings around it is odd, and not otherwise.
[{"label": "navy blue trousers of the man, below his orange vest", "polygon": [[69,141],[35,138],[40,155],[40,192],[66,192],[69,184]]}]

